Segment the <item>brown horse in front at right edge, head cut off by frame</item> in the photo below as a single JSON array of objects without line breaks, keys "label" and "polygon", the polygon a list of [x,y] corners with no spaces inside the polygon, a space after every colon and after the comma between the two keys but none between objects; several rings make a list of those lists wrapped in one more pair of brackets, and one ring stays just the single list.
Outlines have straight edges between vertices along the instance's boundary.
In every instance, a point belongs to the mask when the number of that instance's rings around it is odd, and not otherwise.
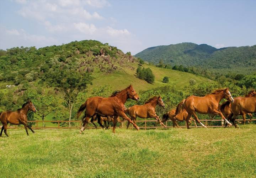
[{"label": "brown horse in front at right edge, head cut off by frame", "polygon": [[[235,128],[239,128],[236,124],[236,116],[242,115],[243,118],[245,113],[254,113],[256,112],[256,93],[251,97],[236,97],[234,102],[231,104],[231,114],[229,120],[233,122]],[[232,118],[233,116],[233,118]]]}]

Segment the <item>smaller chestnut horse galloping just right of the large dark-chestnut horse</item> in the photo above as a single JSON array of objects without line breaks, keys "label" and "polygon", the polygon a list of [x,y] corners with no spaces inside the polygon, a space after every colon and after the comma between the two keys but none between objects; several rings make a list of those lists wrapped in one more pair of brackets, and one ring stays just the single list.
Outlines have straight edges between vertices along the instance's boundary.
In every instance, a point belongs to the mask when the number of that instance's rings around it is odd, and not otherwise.
[{"label": "smaller chestnut horse galloping just right of the large dark-chestnut horse", "polygon": [[[126,113],[129,114],[130,118],[132,119],[132,121],[136,124],[136,118],[140,117],[140,118],[156,118],[156,120],[158,120],[158,122],[166,128],[165,124],[163,124],[159,117],[156,115],[155,112],[155,108],[156,105],[162,106],[165,108],[165,104],[162,101],[161,96],[154,96],[153,98],[150,98],[148,101],[146,101],[144,103],[144,105],[134,105],[132,107],[129,107],[126,110]],[[127,129],[129,128],[129,122],[127,124]]]}]

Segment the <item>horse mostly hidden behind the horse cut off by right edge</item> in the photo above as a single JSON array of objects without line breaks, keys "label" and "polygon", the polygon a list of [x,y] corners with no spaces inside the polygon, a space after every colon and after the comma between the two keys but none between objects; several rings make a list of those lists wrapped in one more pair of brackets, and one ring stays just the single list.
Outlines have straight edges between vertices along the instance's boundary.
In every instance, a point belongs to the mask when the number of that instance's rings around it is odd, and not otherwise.
[{"label": "horse mostly hidden behind the horse cut off by right edge", "polygon": [[[245,95],[245,97],[250,98],[255,94],[256,94],[256,91],[251,90],[247,95]],[[228,118],[231,114],[231,102],[225,101],[222,105],[220,105],[219,110],[222,112],[222,114],[224,115],[225,118]],[[248,123],[250,123],[252,121],[252,114],[251,113],[246,113],[244,111],[240,111],[239,115],[242,115],[244,124],[246,122],[246,117],[245,117],[246,114],[251,117],[251,119],[250,119],[250,121],[248,121]]]}]

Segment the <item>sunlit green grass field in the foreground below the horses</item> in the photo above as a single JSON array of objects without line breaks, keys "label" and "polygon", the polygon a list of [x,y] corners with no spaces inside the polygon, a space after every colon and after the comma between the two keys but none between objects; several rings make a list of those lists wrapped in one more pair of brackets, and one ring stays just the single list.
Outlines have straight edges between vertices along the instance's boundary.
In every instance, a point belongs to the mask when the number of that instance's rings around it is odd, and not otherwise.
[{"label": "sunlit green grass field in the foreground below the horses", "polygon": [[40,129],[0,138],[0,177],[255,177],[256,125],[168,130]]}]

